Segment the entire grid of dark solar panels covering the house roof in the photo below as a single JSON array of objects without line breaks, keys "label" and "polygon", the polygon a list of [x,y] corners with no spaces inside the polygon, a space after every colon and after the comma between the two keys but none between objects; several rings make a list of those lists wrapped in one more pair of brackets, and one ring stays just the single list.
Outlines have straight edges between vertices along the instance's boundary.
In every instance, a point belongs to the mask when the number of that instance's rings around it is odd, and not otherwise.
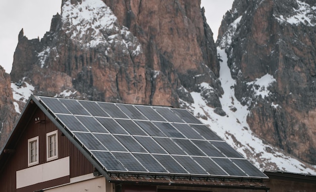
[{"label": "entire grid of dark solar panels covering the house roof", "polygon": [[267,177],[186,109],[38,98],[108,172]]}]

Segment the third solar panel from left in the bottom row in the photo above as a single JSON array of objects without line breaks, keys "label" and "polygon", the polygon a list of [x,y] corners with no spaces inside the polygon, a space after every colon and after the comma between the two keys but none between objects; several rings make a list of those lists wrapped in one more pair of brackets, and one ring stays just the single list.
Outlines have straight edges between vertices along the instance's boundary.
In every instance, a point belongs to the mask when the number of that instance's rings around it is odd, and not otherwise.
[{"label": "third solar panel from left in the bottom row", "polygon": [[146,167],[146,169],[150,172],[160,172],[160,173],[168,173],[168,171],[151,155],[142,154],[142,153],[134,153],[133,154],[138,161]]}]

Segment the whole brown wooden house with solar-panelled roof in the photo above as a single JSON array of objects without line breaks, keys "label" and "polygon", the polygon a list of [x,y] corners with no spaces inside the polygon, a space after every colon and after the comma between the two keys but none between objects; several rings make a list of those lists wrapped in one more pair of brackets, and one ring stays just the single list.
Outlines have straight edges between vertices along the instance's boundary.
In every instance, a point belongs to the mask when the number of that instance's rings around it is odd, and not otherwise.
[{"label": "whole brown wooden house with solar-panelled roof", "polygon": [[0,191],[268,191],[268,176],[185,109],[31,96]]}]

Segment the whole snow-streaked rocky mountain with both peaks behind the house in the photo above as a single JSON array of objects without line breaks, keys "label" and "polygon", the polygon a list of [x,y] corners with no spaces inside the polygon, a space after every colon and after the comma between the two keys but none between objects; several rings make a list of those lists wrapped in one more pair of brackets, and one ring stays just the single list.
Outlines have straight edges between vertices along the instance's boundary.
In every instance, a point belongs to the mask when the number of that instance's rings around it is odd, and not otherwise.
[{"label": "whole snow-streaked rocky mountain with both peaks behind the house", "polygon": [[184,107],[261,170],[316,174],[311,4],[235,1],[216,45],[198,1],[63,0],[41,40],[19,34],[13,106],[37,94]]}]

